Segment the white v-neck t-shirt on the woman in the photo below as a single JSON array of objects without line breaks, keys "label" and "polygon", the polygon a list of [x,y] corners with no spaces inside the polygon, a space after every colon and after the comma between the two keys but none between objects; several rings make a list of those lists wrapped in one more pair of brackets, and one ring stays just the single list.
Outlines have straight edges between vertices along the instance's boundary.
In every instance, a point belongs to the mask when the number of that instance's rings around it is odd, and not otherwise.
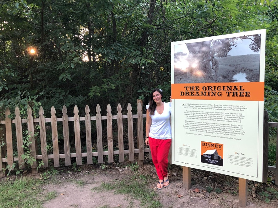
[{"label": "white v-neck t-shirt on the woman", "polygon": [[[146,108],[149,109],[150,105],[146,105]],[[159,114],[156,110],[154,115],[150,115],[152,118],[152,124],[150,126],[149,137],[154,139],[171,139],[171,103],[164,103],[164,110],[162,114]]]}]

